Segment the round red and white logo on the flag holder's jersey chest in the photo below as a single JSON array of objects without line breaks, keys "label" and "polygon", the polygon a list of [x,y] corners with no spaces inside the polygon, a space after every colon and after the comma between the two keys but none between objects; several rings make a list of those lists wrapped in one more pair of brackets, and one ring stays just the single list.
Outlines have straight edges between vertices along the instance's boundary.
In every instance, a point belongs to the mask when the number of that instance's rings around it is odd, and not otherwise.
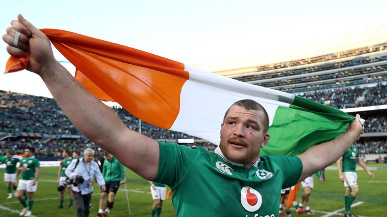
[{"label": "round red and white logo on the flag holder's jersey chest", "polygon": [[262,206],[262,195],[252,187],[242,187],[240,190],[240,203],[247,211],[254,212]]}]

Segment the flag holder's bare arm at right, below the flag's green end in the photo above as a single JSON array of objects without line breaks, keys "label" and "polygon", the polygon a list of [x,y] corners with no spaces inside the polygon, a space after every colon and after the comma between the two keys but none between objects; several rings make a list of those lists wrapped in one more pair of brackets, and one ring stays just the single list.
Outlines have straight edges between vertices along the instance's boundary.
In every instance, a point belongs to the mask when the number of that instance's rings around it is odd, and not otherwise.
[{"label": "flag holder's bare arm at right, below the flag's green end", "polygon": [[360,116],[356,115],[348,132],[298,155],[303,165],[299,181],[337,161],[349,147],[359,140],[362,133],[363,126],[360,124]]}]

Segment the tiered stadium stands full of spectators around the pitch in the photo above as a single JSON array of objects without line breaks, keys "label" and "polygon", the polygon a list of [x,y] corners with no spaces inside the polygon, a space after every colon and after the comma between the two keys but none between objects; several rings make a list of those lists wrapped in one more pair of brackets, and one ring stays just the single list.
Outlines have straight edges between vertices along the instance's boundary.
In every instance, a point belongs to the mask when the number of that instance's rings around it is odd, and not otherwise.
[{"label": "tiered stadium stands full of spectators around the pitch", "polygon": [[[368,37],[368,36],[367,36]],[[342,109],[355,108],[366,120],[365,134],[356,144],[362,154],[387,152],[387,41],[335,50],[305,58],[215,71],[255,85],[286,91]],[[373,107],[372,107],[373,106]],[[139,120],[113,107],[122,122],[139,131]],[[215,145],[189,135],[142,123],[142,133],[158,141],[195,139],[213,150]],[[100,149],[84,138],[51,98],[0,91],[0,151],[31,145],[39,155],[59,156],[61,148]],[[22,149],[20,149],[22,151]]]}]

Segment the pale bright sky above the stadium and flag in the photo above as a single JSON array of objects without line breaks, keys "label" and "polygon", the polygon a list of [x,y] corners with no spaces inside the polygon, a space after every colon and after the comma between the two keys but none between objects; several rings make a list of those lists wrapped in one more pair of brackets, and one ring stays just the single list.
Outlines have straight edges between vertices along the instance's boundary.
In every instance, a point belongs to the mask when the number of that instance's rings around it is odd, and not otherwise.
[{"label": "pale bright sky above the stadium and flag", "polygon": [[[0,30],[18,14],[37,28],[76,32],[205,66],[284,51],[387,24],[387,1],[4,1]],[[58,61],[66,61],[54,50]],[[0,42],[0,67],[9,54]],[[74,74],[71,64],[64,64]],[[38,75],[0,73],[0,89],[51,97]]]}]

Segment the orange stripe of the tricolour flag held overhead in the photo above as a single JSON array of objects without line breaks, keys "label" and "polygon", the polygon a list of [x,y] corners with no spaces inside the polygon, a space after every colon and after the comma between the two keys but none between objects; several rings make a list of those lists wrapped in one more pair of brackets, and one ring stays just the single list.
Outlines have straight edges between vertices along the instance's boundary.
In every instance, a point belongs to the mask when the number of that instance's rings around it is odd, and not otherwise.
[{"label": "orange stripe of the tricolour flag held overhead", "polygon": [[[181,88],[189,78],[184,64],[68,31],[41,31],[77,68],[78,81],[99,99],[116,101],[155,126],[172,126],[180,109]],[[15,60],[12,64],[19,66]]]}]

